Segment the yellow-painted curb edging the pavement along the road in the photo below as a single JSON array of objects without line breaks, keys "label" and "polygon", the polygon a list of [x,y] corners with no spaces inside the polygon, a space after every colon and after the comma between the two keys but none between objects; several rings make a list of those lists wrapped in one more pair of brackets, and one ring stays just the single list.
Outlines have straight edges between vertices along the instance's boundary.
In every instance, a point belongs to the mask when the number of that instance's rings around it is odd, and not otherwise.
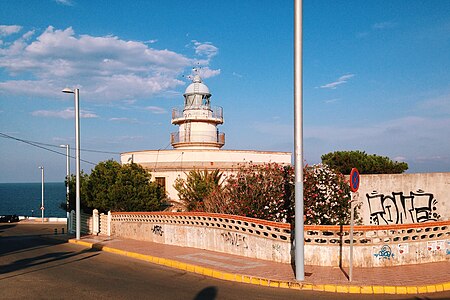
[{"label": "yellow-painted curb edging the pavement along the road", "polygon": [[169,268],[174,268],[190,273],[196,273],[212,278],[238,282],[238,283],[248,283],[253,285],[260,285],[265,287],[275,287],[275,288],[285,288],[301,291],[320,291],[320,292],[331,292],[331,293],[346,293],[346,294],[391,294],[391,295],[417,295],[425,293],[437,293],[450,291],[450,282],[444,282],[439,284],[422,285],[422,286],[380,286],[380,285],[367,285],[367,286],[356,286],[356,285],[337,285],[337,284],[311,284],[311,283],[299,283],[295,281],[288,280],[271,280],[262,277],[254,277],[242,274],[234,274],[223,271],[218,271],[210,268],[205,268],[197,265],[192,265],[188,263],[183,263],[180,261],[161,258],[151,255],[144,255],[135,252],[120,250],[108,246],[103,246],[100,244],[94,244],[90,242],[85,242],[76,239],[69,239],[69,243],[81,245],[87,248],[92,248],[100,251],[105,251],[109,253],[119,254],[122,256],[127,256],[135,258],[138,260],[150,262],[153,264],[166,266]]}]

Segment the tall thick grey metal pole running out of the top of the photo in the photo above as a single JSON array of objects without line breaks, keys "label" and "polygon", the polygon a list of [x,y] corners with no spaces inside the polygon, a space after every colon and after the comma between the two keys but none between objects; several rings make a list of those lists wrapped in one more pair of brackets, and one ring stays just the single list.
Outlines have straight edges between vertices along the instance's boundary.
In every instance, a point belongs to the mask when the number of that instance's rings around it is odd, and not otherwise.
[{"label": "tall thick grey metal pole running out of the top of the photo", "polygon": [[295,278],[305,280],[303,222],[302,0],[294,2]]}]

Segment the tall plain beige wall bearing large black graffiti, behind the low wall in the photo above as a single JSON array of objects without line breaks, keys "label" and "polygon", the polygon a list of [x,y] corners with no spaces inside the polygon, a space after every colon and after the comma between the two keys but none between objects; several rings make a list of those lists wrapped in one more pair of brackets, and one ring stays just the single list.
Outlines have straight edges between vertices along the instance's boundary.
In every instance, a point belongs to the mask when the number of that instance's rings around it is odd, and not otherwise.
[{"label": "tall plain beige wall bearing large black graffiti, behind the low wall", "polygon": [[450,219],[450,173],[361,175],[356,196],[365,225]]}]

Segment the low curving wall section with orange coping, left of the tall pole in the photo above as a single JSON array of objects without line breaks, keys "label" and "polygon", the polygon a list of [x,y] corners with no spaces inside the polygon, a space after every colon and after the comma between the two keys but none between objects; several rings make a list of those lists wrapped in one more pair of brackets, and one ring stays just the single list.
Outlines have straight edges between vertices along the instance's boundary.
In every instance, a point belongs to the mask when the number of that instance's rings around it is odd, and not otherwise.
[{"label": "low curving wall section with orange coping, left of the tall pole", "polygon": [[288,224],[208,213],[112,213],[113,236],[282,263],[291,261]]}]

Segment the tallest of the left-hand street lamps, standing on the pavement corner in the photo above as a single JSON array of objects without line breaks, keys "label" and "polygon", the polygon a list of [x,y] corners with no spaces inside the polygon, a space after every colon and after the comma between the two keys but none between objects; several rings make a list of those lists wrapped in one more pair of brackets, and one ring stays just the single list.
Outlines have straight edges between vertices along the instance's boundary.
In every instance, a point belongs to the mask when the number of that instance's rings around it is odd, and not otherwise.
[{"label": "tallest of the left-hand street lamps, standing on the pavement corner", "polygon": [[76,166],[76,186],[75,186],[75,217],[76,222],[76,233],[75,237],[77,240],[80,239],[80,228],[81,228],[81,214],[80,214],[80,97],[79,89],[69,89],[65,88],[62,90],[63,93],[69,93],[75,95],[75,166]]}]

